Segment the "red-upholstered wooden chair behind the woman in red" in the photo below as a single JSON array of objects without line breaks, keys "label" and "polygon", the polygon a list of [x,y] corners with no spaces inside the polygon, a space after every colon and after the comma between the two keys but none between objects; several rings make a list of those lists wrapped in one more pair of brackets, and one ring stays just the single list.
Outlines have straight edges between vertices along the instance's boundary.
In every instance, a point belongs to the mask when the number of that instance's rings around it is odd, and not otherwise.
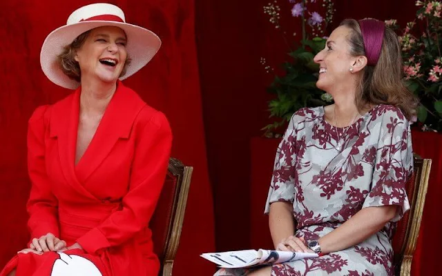
[{"label": "red-upholstered wooden chair behind the woman in red", "polygon": [[160,276],[171,276],[186,210],[193,168],[171,158],[166,181],[151,219],[154,250],[160,258]]}]

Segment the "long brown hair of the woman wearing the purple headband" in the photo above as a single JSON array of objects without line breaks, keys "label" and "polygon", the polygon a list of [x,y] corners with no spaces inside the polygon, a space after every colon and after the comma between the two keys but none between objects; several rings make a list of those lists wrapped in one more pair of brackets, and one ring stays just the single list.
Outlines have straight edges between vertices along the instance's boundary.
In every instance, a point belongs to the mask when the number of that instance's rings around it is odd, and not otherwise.
[{"label": "long brown hair of the woman wearing the purple headband", "polygon": [[[364,41],[358,21],[345,19],[339,26],[350,28],[347,41],[350,54],[365,56]],[[376,66],[365,66],[358,84],[356,106],[359,111],[368,106],[389,104],[401,108],[410,120],[416,114],[418,100],[403,82],[401,44],[394,31],[385,26],[381,55]]]}]

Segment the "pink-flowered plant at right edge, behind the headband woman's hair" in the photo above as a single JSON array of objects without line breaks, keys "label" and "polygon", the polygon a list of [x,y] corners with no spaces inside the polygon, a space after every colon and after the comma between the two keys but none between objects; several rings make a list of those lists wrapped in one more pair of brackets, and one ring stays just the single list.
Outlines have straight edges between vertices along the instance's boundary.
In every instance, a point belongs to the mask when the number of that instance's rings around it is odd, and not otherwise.
[{"label": "pink-flowered plant at right edge, behind the headband woman's hair", "polygon": [[442,3],[416,1],[416,19],[403,30],[396,20],[387,20],[397,30],[402,46],[407,87],[419,97],[417,112],[423,130],[442,130]]}]

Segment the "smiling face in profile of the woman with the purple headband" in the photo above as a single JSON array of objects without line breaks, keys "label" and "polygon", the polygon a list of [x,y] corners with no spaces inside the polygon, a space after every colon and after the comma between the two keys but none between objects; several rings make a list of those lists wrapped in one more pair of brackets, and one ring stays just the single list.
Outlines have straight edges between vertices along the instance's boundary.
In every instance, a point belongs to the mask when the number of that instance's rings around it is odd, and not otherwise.
[{"label": "smiling face in profile of the woman with the purple headband", "polygon": [[336,28],[325,48],[318,52],[314,61],[319,64],[318,88],[330,92],[340,83],[345,83],[351,75],[350,68],[354,65],[355,57],[350,55],[350,45],[347,41],[351,29],[340,26]]}]

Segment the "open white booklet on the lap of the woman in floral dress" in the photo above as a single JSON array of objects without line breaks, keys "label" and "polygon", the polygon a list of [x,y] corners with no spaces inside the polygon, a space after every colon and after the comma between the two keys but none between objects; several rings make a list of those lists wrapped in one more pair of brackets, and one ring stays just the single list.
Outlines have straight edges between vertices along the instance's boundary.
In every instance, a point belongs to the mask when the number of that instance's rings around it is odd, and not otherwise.
[{"label": "open white booklet on the lap of the woman in floral dress", "polygon": [[201,257],[218,264],[221,268],[247,268],[265,264],[280,264],[298,259],[315,258],[318,257],[318,254],[260,249],[204,253]]}]

